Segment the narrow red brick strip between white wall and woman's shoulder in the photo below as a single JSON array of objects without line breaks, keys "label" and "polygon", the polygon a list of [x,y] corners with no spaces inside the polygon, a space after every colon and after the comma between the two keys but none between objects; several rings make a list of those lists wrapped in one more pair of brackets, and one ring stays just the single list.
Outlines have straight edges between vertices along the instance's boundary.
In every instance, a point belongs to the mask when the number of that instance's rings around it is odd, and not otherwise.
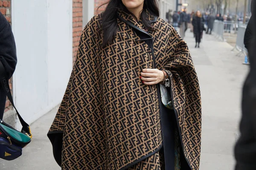
[{"label": "narrow red brick strip between white wall and woman's shoulder", "polygon": [[73,63],[76,59],[78,45],[83,29],[82,0],[73,0]]}]

